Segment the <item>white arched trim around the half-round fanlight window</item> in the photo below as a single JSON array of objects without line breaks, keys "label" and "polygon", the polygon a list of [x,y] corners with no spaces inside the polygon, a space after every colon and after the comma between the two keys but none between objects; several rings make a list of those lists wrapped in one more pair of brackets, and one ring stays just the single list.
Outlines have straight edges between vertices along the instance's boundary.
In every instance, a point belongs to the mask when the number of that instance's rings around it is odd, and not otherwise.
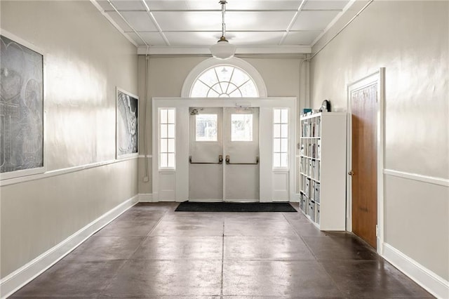
[{"label": "white arched trim around the half-round fanlight window", "polygon": [[[243,69],[244,72],[246,72],[251,79],[253,79],[255,86],[257,88],[257,92],[259,93],[259,98],[267,98],[267,86],[265,86],[264,79],[260,75],[260,73],[253,67],[253,65],[250,65],[249,62],[246,62],[243,59],[240,58],[229,58],[227,60],[217,60],[215,58],[208,58],[206,60],[203,60],[202,62],[199,62],[196,67],[192,69],[192,71],[189,72],[187,77],[185,78],[184,84],[182,84],[181,89],[181,97],[182,98],[190,98],[190,91],[192,91],[192,87],[194,85],[194,82],[198,77],[206,71],[206,69],[210,69],[210,67],[216,67],[219,65],[233,65],[234,67],[238,67],[240,69]],[[241,98],[241,99],[247,99],[247,98]]]}]

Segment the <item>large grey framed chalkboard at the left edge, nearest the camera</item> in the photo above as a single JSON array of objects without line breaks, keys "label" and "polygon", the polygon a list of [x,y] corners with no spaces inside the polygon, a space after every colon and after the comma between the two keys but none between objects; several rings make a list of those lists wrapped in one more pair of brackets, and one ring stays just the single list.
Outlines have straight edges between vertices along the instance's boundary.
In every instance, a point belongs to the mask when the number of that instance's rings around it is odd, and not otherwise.
[{"label": "large grey framed chalkboard at the left edge, nearest the camera", "polygon": [[43,167],[43,55],[0,36],[0,173]]}]

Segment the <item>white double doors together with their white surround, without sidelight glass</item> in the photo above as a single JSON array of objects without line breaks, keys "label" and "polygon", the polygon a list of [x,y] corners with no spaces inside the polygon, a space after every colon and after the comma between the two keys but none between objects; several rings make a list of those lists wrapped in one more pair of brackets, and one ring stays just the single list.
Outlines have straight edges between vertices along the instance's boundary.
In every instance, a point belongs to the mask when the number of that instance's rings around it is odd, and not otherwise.
[{"label": "white double doors together with their white surround, without sidelight glass", "polygon": [[[293,201],[296,98],[153,98],[153,201]],[[288,110],[288,162],[276,166],[274,111]],[[161,111],[175,111],[175,164],[164,167]],[[162,155],[162,156],[161,156]]]}]

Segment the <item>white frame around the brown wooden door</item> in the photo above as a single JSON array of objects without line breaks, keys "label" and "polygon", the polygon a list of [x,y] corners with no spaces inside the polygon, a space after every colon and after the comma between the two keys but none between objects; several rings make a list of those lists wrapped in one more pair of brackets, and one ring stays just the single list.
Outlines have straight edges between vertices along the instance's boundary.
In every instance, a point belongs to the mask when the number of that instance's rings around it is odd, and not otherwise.
[{"label": "white frame around the brown wooden door", "polygon": [[[352,167],[352,114],[351,114],[351,91],[377,83],[377,253],[382,255],[384,243],[384,140],[385,140],[385,68],[381,67],[376,72],[369,74],[347,84],[347,171]],[[346,230],[352,232],[352,180],[347,174],[347,219]]]}]

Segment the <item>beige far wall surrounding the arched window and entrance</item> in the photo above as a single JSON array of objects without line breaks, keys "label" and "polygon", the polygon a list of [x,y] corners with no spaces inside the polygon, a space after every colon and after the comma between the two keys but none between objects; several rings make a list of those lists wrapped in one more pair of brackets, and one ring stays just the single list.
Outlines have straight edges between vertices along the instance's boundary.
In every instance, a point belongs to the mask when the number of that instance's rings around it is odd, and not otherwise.
[{"label": "beige far wall surrounding the arched window and entrance", "polygon": [[[189,72],[210,57],[151,57],[149,58],[148,73],[148,107],[147,107],[147,136],[148,136],[148,153],[152,153],[152,128],[151,128],[151,99],[153,97],[180,97],[182,85]],[[300,78],[300,58],[286,57],[264,57],[249,56],[242,58],[249,62],[262,76],[265,86],[267,86],[267,95],[274,96],[293,96],[298,99],[299,107],[304,107],[304,73]],[[304,72],[304,71],[303,71]],[[139,95],[145,98],[145,56],[139,57]],[[302,86],[302,88],[300,88]],[[301,91],[300,91],[301,89]],[[141,102],[143,105],[143,102]],[[144,107],[140,107],[143,111]],[[299,109],[298,108],[298,111]],[[143,128],[143,120],[141,119],[140,128]],[[140,130],[141,137],[143,131]],[[143,144],[140,144],[143,152]],[[149,175],[151,176],[152,159],[147,159],[149,165]],[[139,192],[151,193],[152,181],[143,182],[145,176],[145,159],[140,159],[139,164]]]}]

